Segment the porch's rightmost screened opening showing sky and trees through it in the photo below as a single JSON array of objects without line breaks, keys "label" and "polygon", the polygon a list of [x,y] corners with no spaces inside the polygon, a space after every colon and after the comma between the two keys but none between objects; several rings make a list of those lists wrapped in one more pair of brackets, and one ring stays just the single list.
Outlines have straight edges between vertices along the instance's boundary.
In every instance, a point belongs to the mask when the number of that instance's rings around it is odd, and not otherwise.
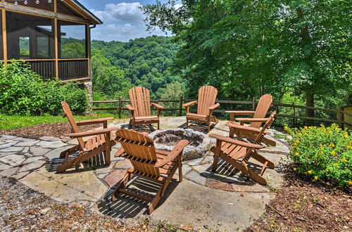
[{"label": "porch's rightmost screened opening showing sky and trees through it", "polygon": [[73,22],[58,22],[59,58],[87,58],[86,26]]}]

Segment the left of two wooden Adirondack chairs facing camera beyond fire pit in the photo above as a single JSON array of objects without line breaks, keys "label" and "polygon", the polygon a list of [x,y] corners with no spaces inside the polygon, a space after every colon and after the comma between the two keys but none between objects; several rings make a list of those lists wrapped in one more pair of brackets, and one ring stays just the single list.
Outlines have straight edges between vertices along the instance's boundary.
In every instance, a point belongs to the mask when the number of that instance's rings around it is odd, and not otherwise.
[{"label": "left of two wooden Adirondack chairs facing camera beyond fire pit", "polygon": [[[134,126],[138,124],[157,123],[159,129],[159,116],[161,110],[164,108],[157,103],[151,103],[149,89],[141,86],[136,86],[130,89],[128,94],[130,95],[132,106],[126,105],[126,107],[132,113],[132,119],[130,120],[130,125],[132,125],[132,128],[134,129]],[[151,105],[153,105],[158,110],[157,115],[151,115]]]}]

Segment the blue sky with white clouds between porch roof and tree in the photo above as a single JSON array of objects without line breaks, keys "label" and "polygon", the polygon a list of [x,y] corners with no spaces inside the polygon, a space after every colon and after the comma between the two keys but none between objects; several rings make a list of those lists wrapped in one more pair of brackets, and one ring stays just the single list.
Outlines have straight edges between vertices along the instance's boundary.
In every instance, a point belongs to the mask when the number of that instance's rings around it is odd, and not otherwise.
[{"label": "blue sky with white clouds between porch roof and tree", "polygon": [[[165,35],[161,30],[146,31],[145,15],[139,6],[153,4],[155,0],[79,0],[89,11],[92,11],[103,25],[92,29],[92,39],[103,41],[129,41],[130,39],[148,37],[153,34]],[[170,34],[169,34],[170,35]]]}]

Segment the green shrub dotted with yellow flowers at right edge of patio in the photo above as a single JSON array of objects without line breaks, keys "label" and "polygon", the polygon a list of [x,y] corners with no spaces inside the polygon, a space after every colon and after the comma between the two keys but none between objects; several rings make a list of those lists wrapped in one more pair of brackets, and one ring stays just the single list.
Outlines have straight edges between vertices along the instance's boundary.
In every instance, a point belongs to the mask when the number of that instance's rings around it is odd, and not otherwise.
[{"label": "green shrub dotted with yellow flowers at right edge of patio", "polygon": [[289,157],[294,161],[294,171],[338,187],[352,185],[352,140],[348,131],[336,124],[285,129],[290,137]]}]

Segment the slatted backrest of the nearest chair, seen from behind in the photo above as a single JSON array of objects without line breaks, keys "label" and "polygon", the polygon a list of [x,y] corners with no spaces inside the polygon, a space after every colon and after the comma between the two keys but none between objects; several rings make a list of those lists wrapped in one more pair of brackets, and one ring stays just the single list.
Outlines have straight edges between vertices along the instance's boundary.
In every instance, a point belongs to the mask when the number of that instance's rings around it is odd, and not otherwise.
[{"label": "slatted backrest of the nearest chair, seen from behind", "polygon": [[134,169],[144,174],[160,176],[159,169],[154,165],[158,161],[154,141],[148,136],[129,129],[120,129],[116,138],[125,153],[129,155]]}]

